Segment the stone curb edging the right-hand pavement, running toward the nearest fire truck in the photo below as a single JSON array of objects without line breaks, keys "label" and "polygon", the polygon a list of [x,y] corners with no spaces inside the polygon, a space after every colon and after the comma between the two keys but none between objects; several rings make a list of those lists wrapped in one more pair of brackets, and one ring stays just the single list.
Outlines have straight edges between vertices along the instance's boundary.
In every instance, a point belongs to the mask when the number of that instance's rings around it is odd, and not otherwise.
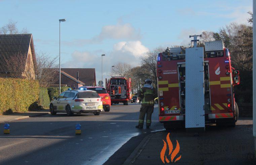
[{"label": "stone curb edging the right-hand pavement, running toward the nearest fire truck", "polygon": [[146,135],[140,142],[140,144],[134,149],[131,155],[123,162],[123,165],[133,164],[136,161],[136,159],[140,156],[141,152],[144,150],[151,137],[156,133],[158,132],[152,132]]}]

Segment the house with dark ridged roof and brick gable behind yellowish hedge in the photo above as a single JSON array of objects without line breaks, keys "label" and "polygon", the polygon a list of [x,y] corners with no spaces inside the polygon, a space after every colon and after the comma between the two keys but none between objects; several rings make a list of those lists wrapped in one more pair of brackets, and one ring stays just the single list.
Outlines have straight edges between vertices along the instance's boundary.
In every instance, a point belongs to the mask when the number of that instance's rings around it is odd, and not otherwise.
[{"label": "house with dark ridged roof and brick gable behind yellowish hedge", "polygon": [[0,35],[0,77],[35,79],[32,34]]}]

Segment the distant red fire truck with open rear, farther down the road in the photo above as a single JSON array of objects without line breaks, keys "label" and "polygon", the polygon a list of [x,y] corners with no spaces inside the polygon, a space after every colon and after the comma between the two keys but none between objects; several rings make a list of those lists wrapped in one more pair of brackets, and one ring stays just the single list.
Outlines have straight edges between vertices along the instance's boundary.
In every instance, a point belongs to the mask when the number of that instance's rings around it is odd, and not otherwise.
[{"label": "distant red fire truck with open rear, farther down the road", "polygon": [[131,78],[125,77],[111,77],[106,79],[106,90],[110,95],[111,105],[123,103],[128,105],[131,98]]}]

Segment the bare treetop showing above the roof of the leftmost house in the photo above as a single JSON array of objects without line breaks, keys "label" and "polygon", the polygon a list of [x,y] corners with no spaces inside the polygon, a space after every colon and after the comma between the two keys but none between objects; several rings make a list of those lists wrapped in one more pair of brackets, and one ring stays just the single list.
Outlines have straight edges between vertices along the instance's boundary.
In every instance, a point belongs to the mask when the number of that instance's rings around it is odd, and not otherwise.
[{"label": "bare treetop showing above the roof of the leftmost house", "polygon": [[17,22],[12,21],[9,19],[9,22],[5,25],[3,25],[0,28],[0,34],[27,34],[29,31],[27,28],[23,28],[21,32],[19,32],[17,28]]}]

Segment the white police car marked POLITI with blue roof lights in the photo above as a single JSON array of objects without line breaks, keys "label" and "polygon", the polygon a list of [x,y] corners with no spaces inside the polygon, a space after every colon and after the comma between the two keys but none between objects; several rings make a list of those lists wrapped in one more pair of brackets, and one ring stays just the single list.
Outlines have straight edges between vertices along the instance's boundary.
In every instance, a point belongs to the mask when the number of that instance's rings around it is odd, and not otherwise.
[{"label": "white police car marked POLITI with blue roof lights", "polygon": [[68,116],[73,113],[94,113],[100,115],[103,110],[101,97],[95,91],[86,89],[67,90],[60,96],[53,97],[50,102],[50,113],[56,115],[57,112],[66,112]]}]

